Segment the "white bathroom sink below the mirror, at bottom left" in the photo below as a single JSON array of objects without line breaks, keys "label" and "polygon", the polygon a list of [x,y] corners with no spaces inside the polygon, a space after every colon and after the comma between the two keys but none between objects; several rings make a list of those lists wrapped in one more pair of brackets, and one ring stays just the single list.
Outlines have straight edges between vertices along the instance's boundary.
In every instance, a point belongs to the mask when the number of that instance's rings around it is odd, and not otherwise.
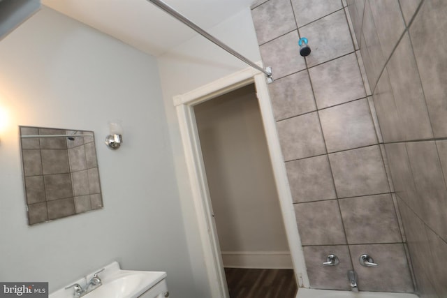
[{"label": "white bathroom sink below the mirror, at bottom left", "polygon": [[[78,283],[83,289],[85,289],[87,281],[91,280],[94,273],[95,272],[92,272],[91,274],[88,274],[86,278],[82,278],[73,283]],[[106,266],[105,269],[98,274],[98,276],[101,278],[103,285],[82,297],[137,298],[142,296],[142,294],[147,292],[149,289],[154,288],[154,286],[161,281],[165,283],[164,279],[166,278],[166,272],[122,270],[119,269],[117,262],[113,262],[112,264]],[[156,295],[158,295],[158,293]],[[156,295],[154,295],[154,297],[156,297]],[[145,297],[149,296],[150,295],[145,294]],[[73,298],[73,288],[65,290],[64,287],[61,290],[50,294],[50,298]]]}]

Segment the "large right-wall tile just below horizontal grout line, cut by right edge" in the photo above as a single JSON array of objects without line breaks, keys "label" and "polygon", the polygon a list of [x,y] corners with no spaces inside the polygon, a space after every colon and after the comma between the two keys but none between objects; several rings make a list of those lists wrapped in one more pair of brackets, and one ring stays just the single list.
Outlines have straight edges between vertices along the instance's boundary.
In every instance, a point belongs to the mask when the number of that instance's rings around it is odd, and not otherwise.
[{"label": "large right-wall tile just below horizontal grout line, cut by right edge", "polygon": [[434,141],[406,143],[416,189],[423,204],[422,219],[447,239],[447,188]]}]

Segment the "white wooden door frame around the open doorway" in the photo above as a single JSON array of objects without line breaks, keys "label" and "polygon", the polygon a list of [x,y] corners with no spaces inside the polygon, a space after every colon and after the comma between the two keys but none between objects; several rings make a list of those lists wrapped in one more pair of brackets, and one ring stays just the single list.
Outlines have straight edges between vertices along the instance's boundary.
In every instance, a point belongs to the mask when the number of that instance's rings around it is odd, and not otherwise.
[{"label": "white wooden door frame around the open doorway", "polygon": [[[261,63],[257,64],[262,67]],[[228,298],[229,296],[193,108],[206,100],[211,100],[252,83],[256,87],[256,97],[258,98],[263,119],[263,128],[267,139],[270,162],[272,163],[274,181],[277,186],[281,215],[286,229],[295,279],[299,288],[309,288],[305,258],[293,210],[293,200],[288,184],[286,165],[279,145],[276,121],[274,120],[270,103],[268,84],[265,80],[265,75],[261,71],[254,68],[245,68],[237,73],[222,77],[210,84],[173,98],[182,135],[192,203],[198,220],[212,298]]]}]

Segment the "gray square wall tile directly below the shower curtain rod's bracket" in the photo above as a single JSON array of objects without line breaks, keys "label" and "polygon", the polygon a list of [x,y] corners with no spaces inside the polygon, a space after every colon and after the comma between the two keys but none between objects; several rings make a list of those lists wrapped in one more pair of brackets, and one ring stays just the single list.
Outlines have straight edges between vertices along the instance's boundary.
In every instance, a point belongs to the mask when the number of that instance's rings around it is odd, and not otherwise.
[{"label": "gray square wall tile directly below the shower curtain rod's bracket", "polygon": [[268,85],[274,119],[281,120],[316,110],[314,93],[306,70]]}]

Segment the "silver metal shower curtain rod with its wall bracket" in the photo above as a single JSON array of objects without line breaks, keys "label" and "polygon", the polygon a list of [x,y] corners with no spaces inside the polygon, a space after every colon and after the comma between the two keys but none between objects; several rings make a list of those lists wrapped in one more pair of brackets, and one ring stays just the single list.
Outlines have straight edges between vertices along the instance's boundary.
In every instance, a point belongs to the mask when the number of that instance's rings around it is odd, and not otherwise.
[{"label": "silver metal shower curtain rod with its wall bracket", "polygon": [[175,17],[177,20],[179,20],[183,24],[186,24],[186,26],[188,26],[189,28],[193,29],[194,31],[199,33],[201,36],[207,38],[207,40],[210,40],[212,43],[215,43],[216,45],[219,45],[219,47],[221,47],[223,50],[226,50],[228,53],[232,54],[234,57],[244,61],[246,64],[248,64],[249,66],[251,66],[253,68],[256,68],[257,70],[262,71],[267,76],[268,82],[269,83],[273,82],[272,68],[271,67],[267,67],[265,69],[261,68],[260,66],[255,64],[253,61],[251,61],[251,60],[247,59],[246,57],[242,56],[241,54],[239,54],[238,52],[233,50],[231,47],[228,47],[228,45],[226,45],[225,43],[222,43],[219,39],[215,38],[210,33],[207,33],[207,31],[205,31],[205,30],[201,29],[200,27],[198,27],[196,24],[194,24],[189,19],[184,17],[184,15],[182,15],[179,12],[177,12],[177,10],[175,10],[174,8],[168,6],[168,4],[164,3],[163,1],[161,1],[161,0],[147,0],[147,1],[152,2],[152,4],[158,6],[159,8],[161,8],[162,10],[164,10],[166,13],[170,14],[171,16]]}]

